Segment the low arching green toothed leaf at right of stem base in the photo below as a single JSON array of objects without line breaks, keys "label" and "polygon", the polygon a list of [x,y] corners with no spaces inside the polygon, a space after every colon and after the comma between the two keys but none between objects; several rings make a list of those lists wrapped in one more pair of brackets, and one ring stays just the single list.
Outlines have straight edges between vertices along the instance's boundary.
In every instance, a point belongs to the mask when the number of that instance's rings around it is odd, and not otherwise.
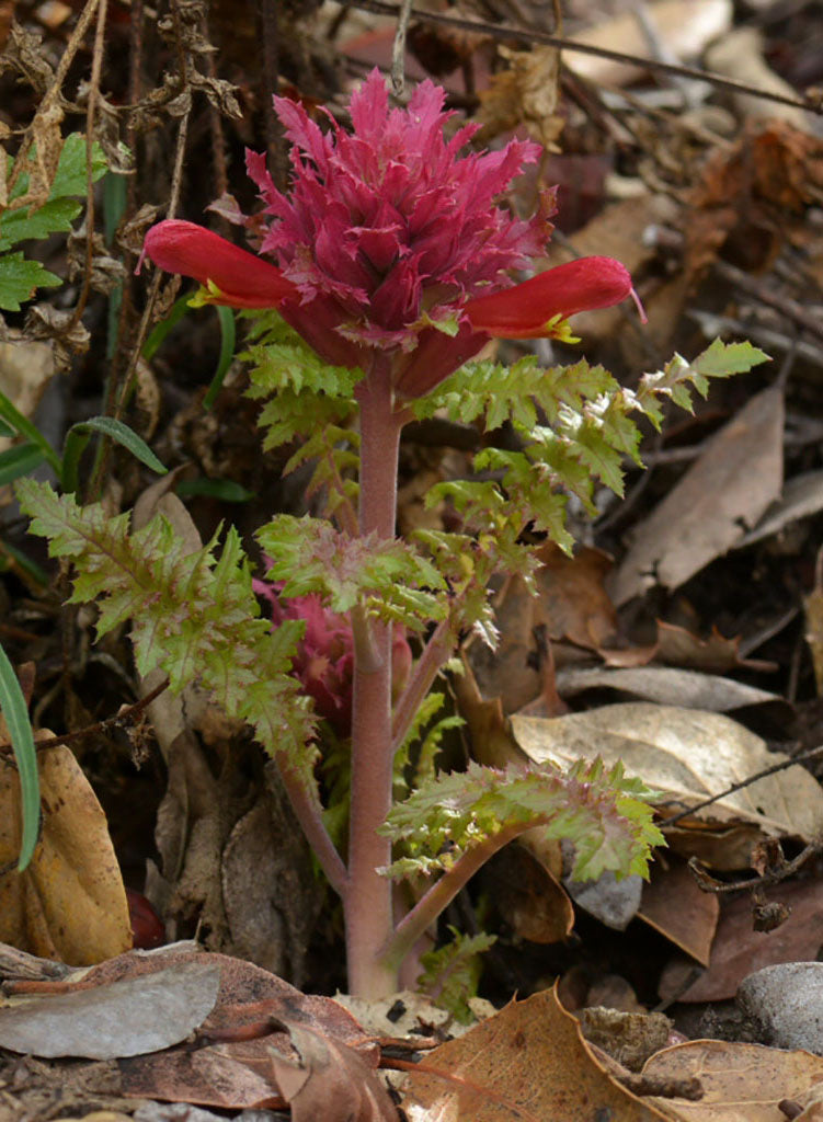
[{"label": "low arching green toothed leaf at right of stem base", "polygon": [[542,826],[549,838],[576,847],[575,880],[648,876],[650,849],[664,837],[652,822],[652,797],[622,765],[606,772],[602,761],[499,771],[469,764],[465,773],[439,775],[394,807],[384,830],[405,844],[408,857],[387,871],[394,876],[446,871],[466,849],[510,826]]}]

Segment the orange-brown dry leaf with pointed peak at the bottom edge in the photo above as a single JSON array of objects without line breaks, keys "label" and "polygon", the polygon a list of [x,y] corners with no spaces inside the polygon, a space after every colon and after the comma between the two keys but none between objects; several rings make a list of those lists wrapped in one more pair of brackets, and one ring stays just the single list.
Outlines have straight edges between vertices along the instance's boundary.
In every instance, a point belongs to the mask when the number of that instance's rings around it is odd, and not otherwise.
[{"label": "orange-brown dry leaf with pointed peak at the bottom edge", "polygon": [[402,1103],[410,1122],[560,1122],[666,1118],[596,1060],[554,990],[512,1001],[428,1052]]}]

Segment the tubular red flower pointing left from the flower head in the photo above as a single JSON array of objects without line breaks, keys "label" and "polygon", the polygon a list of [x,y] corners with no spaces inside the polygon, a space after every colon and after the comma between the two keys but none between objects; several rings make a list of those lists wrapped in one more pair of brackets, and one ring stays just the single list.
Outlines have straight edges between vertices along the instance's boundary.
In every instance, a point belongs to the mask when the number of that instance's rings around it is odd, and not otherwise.
[{"label": "tubular red flower pointing left from the flower head", "polygon": [[193,277],[210,304],[277,307],[296,291],[281,270],[194,222],[166,219],[146,234],[143,252],[168,273]]}]

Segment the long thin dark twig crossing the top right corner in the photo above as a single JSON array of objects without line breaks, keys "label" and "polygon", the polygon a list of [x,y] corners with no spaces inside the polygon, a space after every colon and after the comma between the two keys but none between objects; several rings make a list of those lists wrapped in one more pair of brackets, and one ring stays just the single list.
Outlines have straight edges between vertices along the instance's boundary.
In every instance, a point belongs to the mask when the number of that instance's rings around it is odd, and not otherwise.
[{"label": "long thin dark twig crossing the top right corner", "polygon": [[[353,0],[350,7],[359,8],[363,11],[374,11],[380,16],[400,15],[400,7],[395,3],[385,3],[384,0]],[[422,11],[412,8],[410,17],[419,19],[423,24],[437,24],[441,27],[454,27],[460,31],[482,33],[494,39],[530,39],[533,43],[541,43],[549,47],[560,47],[564,50],[576,50],[584,55],[596,55],[598,58],[611,58],[616,63],[625,63],[628,66],[644,66],[649,70],[661,71],[665,74],[674,74],[679,77],[694,77],[721,90],[732,90],[735,93],[748,93],[756,98],[763,98],[766,101],[774,101],[781,105],[793,105],[795,109],[805,109],[810,113],[823,116],[823,99],[810,101],[803,98],[790,98],[787,94],[776,93],[771,90],[761,90],[759,86],[749,85],[747,82],[735,82],[732,79],[721,77],[708,71],[699,70],[695,66],[679,66],[675,63],[662,63],[653,58],[639,58],[637,55],[627,55],[621,50],[609,50],[606,47],[595,47],[588,43],[575,43],[574,39],[566,39],[559,35],[549,35],[533,27],[505,27],[499,24],[487,24],[479,19],[460,19],[457,16],[446,16],[442,12]]]}]

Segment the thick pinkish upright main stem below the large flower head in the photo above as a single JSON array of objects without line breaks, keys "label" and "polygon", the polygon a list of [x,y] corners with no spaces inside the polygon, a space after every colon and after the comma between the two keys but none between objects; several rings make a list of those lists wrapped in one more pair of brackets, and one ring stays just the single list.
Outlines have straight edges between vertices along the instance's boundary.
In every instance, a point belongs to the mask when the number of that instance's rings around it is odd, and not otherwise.
[{"label": "thick pinkish upright main stem below the large flower head", "polygon": [[[359,533],[394,537],[397,452],[402,419],[394,413],[391,371],[383,355],[357,387],[360,406]],[[393,930],[392,885],[378,868],[391,863],[391,842],[377,833],[392,804],[392,628],[372,626],[368,657],[355,646],[351,715],[351,813],[348,881],[344,892],[348,983],[378,997],[396,988],[396,969],[378,958]]]}]

